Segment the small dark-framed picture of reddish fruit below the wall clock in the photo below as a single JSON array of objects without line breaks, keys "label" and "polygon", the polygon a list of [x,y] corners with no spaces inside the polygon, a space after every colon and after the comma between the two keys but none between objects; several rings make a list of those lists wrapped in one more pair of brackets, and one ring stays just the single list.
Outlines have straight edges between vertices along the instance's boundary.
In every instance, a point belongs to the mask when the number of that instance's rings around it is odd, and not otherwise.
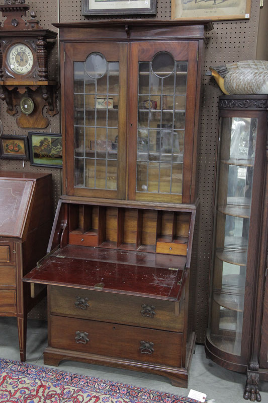
[{"label": "small dark-framed picture of reddish fruit below the wall clock", "polygon": [[0,137],[1,158],[29,160],[27,136],[2,135]]}]

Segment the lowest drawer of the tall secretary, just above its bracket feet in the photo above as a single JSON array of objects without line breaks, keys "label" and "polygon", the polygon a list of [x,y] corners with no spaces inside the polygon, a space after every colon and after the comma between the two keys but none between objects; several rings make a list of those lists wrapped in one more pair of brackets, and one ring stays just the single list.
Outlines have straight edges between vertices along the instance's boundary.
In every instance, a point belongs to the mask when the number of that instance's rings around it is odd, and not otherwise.
[{"label": "lowest drawer of the tall secretary, just above its bracket feet", "polygon": [[[50,341],[50,347],[59,349],[177,367],[182,364],[183,334],[172,331],[51,315]],[[144,343],[153,343],[149,346],[153,350]]]}]

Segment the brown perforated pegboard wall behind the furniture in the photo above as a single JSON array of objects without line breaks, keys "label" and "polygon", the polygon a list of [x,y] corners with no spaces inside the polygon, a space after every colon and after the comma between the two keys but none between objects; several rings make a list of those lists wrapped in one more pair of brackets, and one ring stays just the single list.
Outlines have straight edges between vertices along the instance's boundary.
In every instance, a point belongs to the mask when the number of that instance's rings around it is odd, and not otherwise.
[{"label": "brown perforated pegboard wall behind the furniture", "polygon": [[[1,0],[0,0],[1,1]],[[179,1],[179,0],[178,0]],[[56,30],[53,22],[79,22],[88,19],[97,20],[104,17],[87,18],[81,16],[81,0],[47,0],[47,2],[27,1],[30,8],[35,10],[40,24],[44,28]],[[170,0],[157,0],[156,19],[169,20],[171,16]],[[106,17],[106,19],[120,19],[126,17]],[[135,18],[130,16],[130,18]],[[142,18],[138,16],[137,18]],[[144,16],[148,18],[148,16]],[[256,43],[259,22],[259,0],[251,0],[251,13],[249,20],[220,21],[214,23],[214,30],[206,33],[207,45],[204,58],[202,75],[202,99],[200,130],[198,143],[198,172],[197,193],[201,200],[200,219],[198,229],[197,246],[197,276],[196,276],[196,306],[195,306],[195,329],[197,341],[204,343],[209,306],[209,271],[210,255],[213,232],[213,205],[214,205],[214,182],[216,170],[216,151],[218,145],[218,97],[221,95],[216,83],[205,76],[210,66],[225,64],[238,60],[256,58]],[[266,27],[265,27],[266,29]],[[265,37],[266,32],[263,32]],[[54,46],[50,68],[55,69],[51,73],[58,77],[58,47]],[[26,134],[28,130],[20,129],[16,125],[15,117],[8,115],[6,107],[1,101],[0,117],[4,124],[4,133]],[[49,115],[48,115],[49,117]],[[50,125],[46,131],[60,132],[60,116],[50,118]],[[32,167],[27,161],[25,167],[22,161],[13,162],[1,160],[1,169],[4,170],[27,170],[49,171],[53,174],[54,201],[57,203],[60,194],[60,171],[59,169],[47,169]],[[35,313],[36,311],[36,313]],[[30,313],[30,317],[44,318],[45,303]],[[42,313],[43,312],[43,313]]]}]

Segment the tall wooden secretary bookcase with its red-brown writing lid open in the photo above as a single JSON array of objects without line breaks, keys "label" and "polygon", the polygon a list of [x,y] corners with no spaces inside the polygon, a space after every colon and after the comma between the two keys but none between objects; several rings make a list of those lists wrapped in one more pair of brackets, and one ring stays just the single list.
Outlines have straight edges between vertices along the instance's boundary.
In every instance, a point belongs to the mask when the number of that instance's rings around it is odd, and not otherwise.
[{"label": "tall wooden secretary bookcase with its red-brown writing lid open", "polygon": [[48,289],[44,363],[110,365],[187,387],[201,55],[212,24],[55,26],[64,195],[49,255],[24,278]]}]

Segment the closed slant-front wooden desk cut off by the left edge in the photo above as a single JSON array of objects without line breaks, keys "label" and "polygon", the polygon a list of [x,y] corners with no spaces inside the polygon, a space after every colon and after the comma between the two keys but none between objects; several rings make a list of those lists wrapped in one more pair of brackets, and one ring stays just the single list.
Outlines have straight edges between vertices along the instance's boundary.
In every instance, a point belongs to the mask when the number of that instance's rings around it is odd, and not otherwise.
[{"label": "closed slant-front wooden desk cut off by the left edge", "polygon": [[22,278],[46,254],[52,222],[51,174],[0,172],[0,316],[17,317],[21,361],[27,313],[45,295]]}]

